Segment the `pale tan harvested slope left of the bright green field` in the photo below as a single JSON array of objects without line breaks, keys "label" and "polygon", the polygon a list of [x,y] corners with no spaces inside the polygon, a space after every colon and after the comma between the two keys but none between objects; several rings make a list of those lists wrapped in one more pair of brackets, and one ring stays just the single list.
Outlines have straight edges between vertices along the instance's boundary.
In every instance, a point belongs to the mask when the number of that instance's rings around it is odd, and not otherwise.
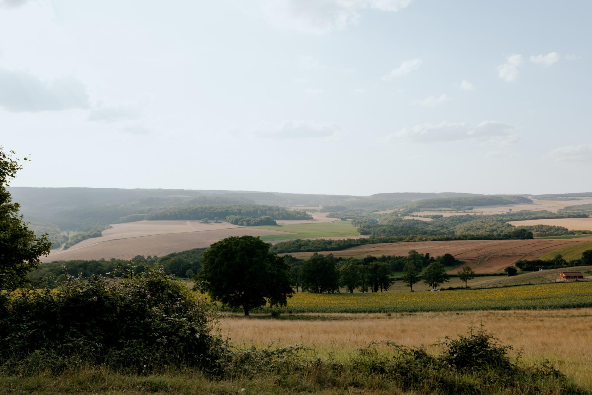
[{"label": "pale tan harvested slope left of the bright green field", "polygon": [[70,247],[67,250],[55,251],[41,258],[41,262],[71,259],[131,259],[136,255],[163,256],[173,252],[209,247],[210,244],[230,236],[266,236],[287,234],[275,230],[234,227],[229,229],[192,231],[184,233],[168,233],[148,235],[144,237],[107,240],[102,243],[85,247]]}]

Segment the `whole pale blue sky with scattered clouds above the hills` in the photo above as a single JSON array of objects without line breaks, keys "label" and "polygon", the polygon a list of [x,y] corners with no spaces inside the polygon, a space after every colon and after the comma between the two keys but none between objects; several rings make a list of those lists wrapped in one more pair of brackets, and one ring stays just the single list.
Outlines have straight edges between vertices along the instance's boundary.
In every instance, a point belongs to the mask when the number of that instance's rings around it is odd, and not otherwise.
[{"label": "whole pale blue sky with scattered clouds above the hills", "polygon": [[592,190],[590,1],[0,0],[11,186]]}]

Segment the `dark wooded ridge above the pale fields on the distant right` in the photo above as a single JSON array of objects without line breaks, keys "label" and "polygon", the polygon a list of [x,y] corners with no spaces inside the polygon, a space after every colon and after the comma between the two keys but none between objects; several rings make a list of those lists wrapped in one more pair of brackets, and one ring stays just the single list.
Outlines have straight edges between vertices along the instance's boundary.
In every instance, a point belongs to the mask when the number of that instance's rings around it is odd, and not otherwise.
[{"label": "dark wooded ridge above the pale fields on the distant right", "polygon": [[422,209],[462,209],[469,206],[493,206],[510,205],[515,203],[532,203],[532,200],[524,196],[515,195],[486,195],[486,196],[464,196],[458,198],[437,198],[423,199],[411,203],[405,209],[417,211]]}]

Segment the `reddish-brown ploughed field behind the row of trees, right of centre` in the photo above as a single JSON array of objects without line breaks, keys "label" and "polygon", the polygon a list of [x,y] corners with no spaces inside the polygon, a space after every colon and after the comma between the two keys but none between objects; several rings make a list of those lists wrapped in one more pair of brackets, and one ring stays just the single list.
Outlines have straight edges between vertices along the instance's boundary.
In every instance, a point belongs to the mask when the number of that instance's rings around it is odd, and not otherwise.
[{"label": "reddish-brown ploughed field behind the row of trees, right of centre", "polygon": [[[536,240],[454,240],[454,241],[416,241],[411,243],[379,243],[352,247],[341,251],[326,251],[344,258],[363,258],[368,255],[407,255],[410,250],[439,256],[452,254],[464,260],[477,273],[503,272],[507,266],[520,259],[538,259],[546,253],[561,247],[592,241],[592,237],[573,239],[536,239]],[[303,258],[313,253],[291,253]],[[451,272],[455,272],[454,269]]]}]

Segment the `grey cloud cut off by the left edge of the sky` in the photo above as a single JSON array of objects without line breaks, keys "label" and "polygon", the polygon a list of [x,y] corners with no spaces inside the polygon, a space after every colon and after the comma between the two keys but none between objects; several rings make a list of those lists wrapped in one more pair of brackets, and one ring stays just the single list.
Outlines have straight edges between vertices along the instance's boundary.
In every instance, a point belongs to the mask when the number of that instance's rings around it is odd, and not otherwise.
[{"label": "grey cloud cut off by the left edge of the sky", "polygon": [[44,81],[26,71],[0,69],[0,107],[11,112],[41,112],[89,107],[82,82],[74,77]]}]

